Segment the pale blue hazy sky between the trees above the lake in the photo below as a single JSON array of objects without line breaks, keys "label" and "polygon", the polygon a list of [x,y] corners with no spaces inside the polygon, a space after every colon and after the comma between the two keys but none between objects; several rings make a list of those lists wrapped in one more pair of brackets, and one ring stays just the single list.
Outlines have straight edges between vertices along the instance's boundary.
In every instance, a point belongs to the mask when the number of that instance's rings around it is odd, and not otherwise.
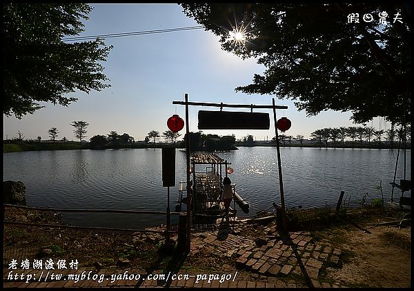
[{"label": "pale blue hazy sky between the trees above the lake", "polygon": [[[177,4],[91,4],[94,8],[89,19],[83,21],[85,31],[80,36],[164,30],[199,26],[186,17]],[[346,19],[344,19],[345,24]],[[362,126],[350,120],[351,112],[328,110],[315,117],[306,117],[305,111],[298,111],[292,101],[277,99],[277,96],[244,94],[235,92],[237,86],[253,83],[254,74],[262,74],[264,66],[255,59],[243,60],[230,52],[221,50],[219,38],[212,32],[184,30],[159,34],[141,34],[130,37],[107,38],[105,43],[114,46],[103,66],[111,85],[100,92],[75,93],[79,100],[68,107],[51,103],[46,108],[28,114],[22,119],[3,115],[3,139],[18,137],[25,139],[50,139],[48,130],[57,128],[57,139],[66,137],[77,140],[72,121],[89,123],[86,139],[96,134],[107,135],[111,131],[128,133],[135,141],[145,139],[148,132],[157,130],[160,134],[168,130],[166,121],[172,114],[185,119],[185,106],[173,105],[172,101],[209,103],[243,103],[271,105],[275,98],[277,105],[288,106],[277,110],[277,119],[288,117],[292,122],[286,135],[304,135],[321,128],[339,126]],[[190,132],[197,128],[199,110],[219,110],[213,107],[189,106],[188,125]],[[223,110],[246,111],[246,109],[224,108]],[[248,110],[247,110],[248,111]],[[235,134],[242,139],[252,134],[255,140],[270,140],[275,137],[273,111],[257,109],[254,112],[270,114],[269,130],[203,130],[205,134],[224,136]],[[383,119],[374,119],[371,124],[377,129],[388,129]],[[181,130],[181,139],[185,128]],[[161,139],[162,140],[162,139]]]}]

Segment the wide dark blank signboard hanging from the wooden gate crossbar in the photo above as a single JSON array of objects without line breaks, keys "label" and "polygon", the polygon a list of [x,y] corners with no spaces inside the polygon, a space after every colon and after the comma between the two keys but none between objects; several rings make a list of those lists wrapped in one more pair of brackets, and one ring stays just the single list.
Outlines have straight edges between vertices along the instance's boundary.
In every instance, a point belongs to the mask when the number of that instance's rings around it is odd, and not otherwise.
[{"label": "wide dark blank signboard hanging from the wooden gate crossbar", "polygon": [[268,113],[199,111],[199,130],[268,130]]}]

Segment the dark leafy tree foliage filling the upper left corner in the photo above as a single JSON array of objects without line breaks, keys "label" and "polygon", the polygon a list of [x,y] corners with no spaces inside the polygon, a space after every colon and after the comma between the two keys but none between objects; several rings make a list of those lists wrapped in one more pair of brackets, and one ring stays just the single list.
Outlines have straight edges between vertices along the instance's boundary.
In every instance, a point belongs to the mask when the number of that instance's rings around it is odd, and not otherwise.
[{"label": "dark leafy tree foliage filling the upper left corner", "polygon": [[86,3],[3,4],[3,114],[21,119],[42,106],[68,106],[77,90],[110,85],[101,62],[112,46],[102,40],[63,41],[83,32],[92,7]]}]

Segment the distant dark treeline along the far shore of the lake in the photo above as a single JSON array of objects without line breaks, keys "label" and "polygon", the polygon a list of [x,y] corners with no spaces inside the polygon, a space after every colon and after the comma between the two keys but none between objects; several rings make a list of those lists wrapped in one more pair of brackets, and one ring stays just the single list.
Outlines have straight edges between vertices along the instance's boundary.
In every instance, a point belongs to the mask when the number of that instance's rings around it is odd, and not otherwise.
[{"label": "distant dark treeline along the far shore of the lake", "polygon": [[[296,137],[279,134],[279,145],[308,148],[404,148],[404,137],[408,138],[405,146],[411,148],[409,136],[410,126],[405,134],[400,129],[390,128],[388,130],[375,130],[369,127],[342,127],[342,128],[323,128],[311,133],[311,140],[304,139],[304,136],[297,134]],[[186,134],[184,139],[177,141],[181,134],[163,132],[162,137],[168,140],[166,143],[159,143],[157,139],[161,136],[159,132],[152,130],[144,141],[135,141],[129,134],[97,134],[90,138],[90,141],[41,141],[13,139],[3,141],[3,152],[19,152],[26,150],[105,150],[117,148],[186,148]],[[215,151],[215,150],[237,150],[237,146],[276,146],[276,139],[270,141],[255,141],[253,135],[248,134],[243,139],[236,141],[235,135],[220,137],[217,134],[204,134],[203,132],[190,132],[190,151]],[[351,140],[349,140],[351,139]]]}]

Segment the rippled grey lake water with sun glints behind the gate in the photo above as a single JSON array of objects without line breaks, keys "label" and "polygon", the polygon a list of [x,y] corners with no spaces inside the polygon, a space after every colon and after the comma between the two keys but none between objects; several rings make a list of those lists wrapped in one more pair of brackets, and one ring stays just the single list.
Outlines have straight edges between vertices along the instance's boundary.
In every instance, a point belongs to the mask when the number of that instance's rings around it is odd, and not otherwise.
[{"label": "rippled grey lake water with sun glints behind the gate", "polygon": [[[232,163],[229,177],[250,204],[250,216],[280,204],[276,148],[239,148],[219,152]],[[339,193],[362,199],[391,195],[397,151],[376,149],[281,148],[286,207],[335,205]],[[404,175],[400,151],[396,181]],[[406,179],[411,177],[411,151],[406,151]],[[174,210],[178,182],[186,180],[186,152],[176,150],[176,186],[170,188]],[[23,181],[28,205],[166,211],[167,188],[161,181],[161,149],[61,150],[3,154],[3,181]],[[395,189],[395,197],[399,192]],[[166,223],[164,215],[65,213],[75,225],[144,228]],[[172,219],[172,222],[175,222]]]}]

